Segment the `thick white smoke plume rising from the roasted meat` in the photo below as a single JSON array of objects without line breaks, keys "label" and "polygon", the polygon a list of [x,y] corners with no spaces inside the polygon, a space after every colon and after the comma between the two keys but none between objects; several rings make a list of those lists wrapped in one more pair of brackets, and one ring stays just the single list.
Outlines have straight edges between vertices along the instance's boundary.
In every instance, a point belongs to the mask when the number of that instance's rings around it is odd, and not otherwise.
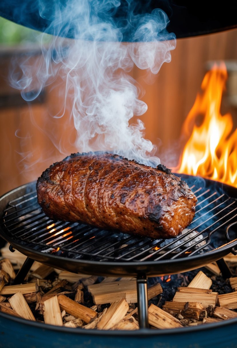
[{"label": "thick white smoke plume rising from the roasted meat", "polygon": [[[129,72],[136,64],[156,74],[164,62],[170,62],[175,36],[166,31],[168,19],[162,10],[134,15],[132,2],[126,1],[129,12],[122,24],[111,16],[120,6],[116,0],[70,0],[64,6],[55,5],[46,30],[55,35],[47,46],[42,45],[36,65],[22,62],[21,76],[17,68],[12,70],[10,83],[31,101],[60,76],[65,82],[65,102],[55,116],[63,117],[70,108],[79,152],[105,150],[157,165],[156,147],[144,139],[143,122],[132,122],[146,112],[147,105],[139,100],[139,87]],[[48,18],[45,4],[40,2],[40,15]],[[122,42],[128,27],[132,42]]]}]

